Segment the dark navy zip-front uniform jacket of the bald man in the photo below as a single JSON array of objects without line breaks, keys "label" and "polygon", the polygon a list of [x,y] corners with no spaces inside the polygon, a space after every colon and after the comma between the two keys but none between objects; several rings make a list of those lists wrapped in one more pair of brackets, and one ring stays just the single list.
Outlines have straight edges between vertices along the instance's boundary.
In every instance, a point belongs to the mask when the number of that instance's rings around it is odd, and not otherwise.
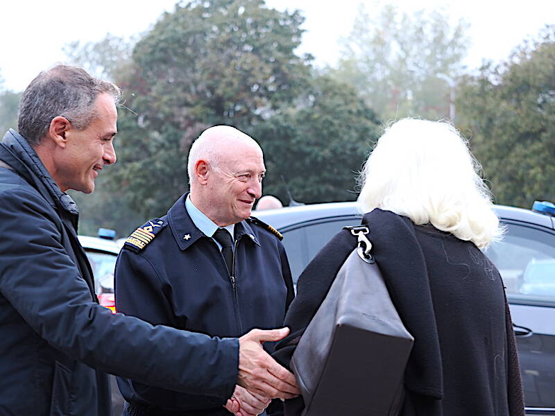
[{"label": "dark navy zip-front uniform jacket of the bald man", "polygon": [[[124,245],[116,265],[117,311],[153,325],[226,337],[281,327],[293,284],[278,237],[250,220],[235,225],[233,285],[216,242],[189,217],[186,196],[166,216],[151,220],[161,227],[142,250]],[[126,379],[118,384],[133,403],[181,410],[180,415],[230,414],[222,407],[229,396],[185,395]]]}]

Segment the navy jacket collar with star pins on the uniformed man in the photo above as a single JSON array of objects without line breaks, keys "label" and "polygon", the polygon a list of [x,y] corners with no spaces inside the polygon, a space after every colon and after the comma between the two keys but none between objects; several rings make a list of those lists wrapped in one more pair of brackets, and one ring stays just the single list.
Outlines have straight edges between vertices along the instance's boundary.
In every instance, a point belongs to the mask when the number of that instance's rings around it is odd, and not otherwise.
[{"label": "navy jacket collar with star pins on the uniformed man", "polygon": [[[190,245],[198,241],[198,239],[210,238],[205,236],[191,220],[191,216],[185,209],[185,199],[189,193],[184,193],[168,211],[168,223],[173,234],[173,238],[179,245],[181,250],[186,250]],[[245,236],[248,240],[253,241],[256,245],[260,245],[257,236],[253,232],[252,227],[246,222],[241,221],[235,224],[234,240],[239,241]]]}]

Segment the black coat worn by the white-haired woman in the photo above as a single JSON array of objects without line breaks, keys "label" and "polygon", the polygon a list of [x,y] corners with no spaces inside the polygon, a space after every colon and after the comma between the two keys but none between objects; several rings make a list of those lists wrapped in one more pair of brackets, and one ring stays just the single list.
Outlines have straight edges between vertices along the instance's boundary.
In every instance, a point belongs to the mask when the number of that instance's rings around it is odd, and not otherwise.
[{"label": "black coat worn by the white-haired woman", "polygon": [[[391,211],[366,214],[391,298],[415,338],[402,416],[521,416],[522,384],[509,308],[497,268],[471,242]],[[289,365],[302,332],[356,239],[339,232],[302,272],[274,356]],[[370,386],[369,386],[370,388]],[[299,415],[302,399],[287,401]]]}]

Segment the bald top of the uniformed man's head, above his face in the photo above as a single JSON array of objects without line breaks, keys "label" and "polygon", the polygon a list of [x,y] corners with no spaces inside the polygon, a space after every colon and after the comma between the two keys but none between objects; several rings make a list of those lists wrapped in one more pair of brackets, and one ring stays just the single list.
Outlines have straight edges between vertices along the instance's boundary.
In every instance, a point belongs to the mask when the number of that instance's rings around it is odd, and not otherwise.
[{"label": "bald top of the uniformed man's head, above his face", "polygon": [[262,154],[262,149],[255,140],[230,125],[214,125],[204,130],[189,150],[187,161],[189,184],[196,182],[194,168],[199,160],[204,160],[214,170],[218,170],[222,157],[244,146],[259,150]]}]

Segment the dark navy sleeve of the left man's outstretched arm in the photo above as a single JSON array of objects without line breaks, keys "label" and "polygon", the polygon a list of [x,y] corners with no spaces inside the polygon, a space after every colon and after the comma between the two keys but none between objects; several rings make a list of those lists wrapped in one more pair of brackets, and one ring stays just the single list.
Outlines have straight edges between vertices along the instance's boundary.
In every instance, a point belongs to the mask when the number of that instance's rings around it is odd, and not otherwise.
[{"label": "dark navy sleeve of the left man's outstretched arm", "polygon": [[0,291],[47,343],[103,372],[181,392],[230,395],[236,339],[112,315],[93,302],[44,199],[19,187],[0,193],[0,201]]}]

